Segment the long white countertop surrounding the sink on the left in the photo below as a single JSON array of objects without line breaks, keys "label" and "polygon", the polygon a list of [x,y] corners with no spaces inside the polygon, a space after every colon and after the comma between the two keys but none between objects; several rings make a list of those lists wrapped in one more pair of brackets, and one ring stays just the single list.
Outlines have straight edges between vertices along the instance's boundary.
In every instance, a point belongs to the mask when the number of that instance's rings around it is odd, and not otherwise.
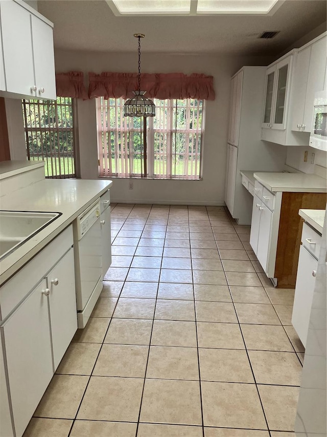
[{"label": "long white countertop surrounding the sink on the left", "polygon": [[0,285],[60,234],[111,185],[112,181],[109,180],[43,179],[3,196],[0,199],[1,210],[60,212],[62,215],[0,262]]}]

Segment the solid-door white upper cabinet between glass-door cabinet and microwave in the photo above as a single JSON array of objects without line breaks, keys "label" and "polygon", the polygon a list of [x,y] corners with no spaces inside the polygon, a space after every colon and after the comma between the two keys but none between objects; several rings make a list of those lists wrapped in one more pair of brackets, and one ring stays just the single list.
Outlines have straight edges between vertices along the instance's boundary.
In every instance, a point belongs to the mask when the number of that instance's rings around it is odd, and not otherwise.
[{"label": "solid-door white upper cabinet between glass-door cabinet and microwave", "polygon": [[322,34],[298,52],[294,72],[293,131],[311,132],[314,95],[324,89],[326,43],[327,36]]}]

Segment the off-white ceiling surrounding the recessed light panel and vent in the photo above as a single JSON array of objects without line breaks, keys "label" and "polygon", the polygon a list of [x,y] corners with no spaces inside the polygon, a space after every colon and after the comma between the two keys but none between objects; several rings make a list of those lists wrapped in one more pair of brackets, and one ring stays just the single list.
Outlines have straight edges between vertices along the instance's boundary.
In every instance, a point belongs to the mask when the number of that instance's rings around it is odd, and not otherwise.
[{"label": "off-white ceiling surrounding the recessed light panel and vent", "polygon": [[[55,48],[111,52],[136,51],[133,34],[144,33],[142,52],[277,55],[325,23],[327,13],[325,0],[285,0],[272,15],[204,16],[115,16],[105,0],[37,4],[54,23]],[[264,31],[280,32],[258,39]]]}]

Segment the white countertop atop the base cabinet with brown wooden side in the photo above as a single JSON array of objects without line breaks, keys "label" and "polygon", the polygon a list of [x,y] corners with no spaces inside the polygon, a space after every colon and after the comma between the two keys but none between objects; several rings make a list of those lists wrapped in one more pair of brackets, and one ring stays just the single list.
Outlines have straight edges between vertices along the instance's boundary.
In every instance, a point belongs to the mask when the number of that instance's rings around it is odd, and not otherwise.
[{"label": "white countertop atop the base cabinet with brown wooden side", "polygon": [[254,173],[254,178],[269,191],[295,193],[326,193],[327,181],[308,173]]}]

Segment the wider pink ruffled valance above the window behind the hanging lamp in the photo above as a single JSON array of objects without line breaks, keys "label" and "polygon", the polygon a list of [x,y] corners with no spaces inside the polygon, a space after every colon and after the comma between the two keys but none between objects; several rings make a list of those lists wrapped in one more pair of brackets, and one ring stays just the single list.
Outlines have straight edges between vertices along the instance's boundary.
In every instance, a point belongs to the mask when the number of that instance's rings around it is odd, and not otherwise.
[{"label": "wider pink ruffled valance above the window behind the hanging lamp", "polygon": [[[88,77],[89,98],[130,98],[138,89],[137,73],[88,73]],[[198,73],[142,73],[141,90],[158,99],[215,99],[213,76]]]}]

